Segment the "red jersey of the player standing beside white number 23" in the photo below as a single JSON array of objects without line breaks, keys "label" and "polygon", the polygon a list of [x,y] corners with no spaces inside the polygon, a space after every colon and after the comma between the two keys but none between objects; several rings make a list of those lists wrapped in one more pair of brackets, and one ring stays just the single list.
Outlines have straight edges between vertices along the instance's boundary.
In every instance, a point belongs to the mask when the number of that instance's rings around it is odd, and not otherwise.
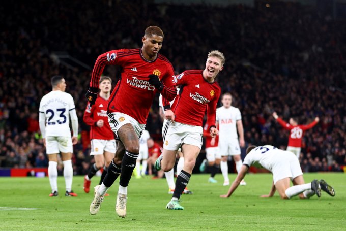
[{"label": "red jersey of the player standing beside white number 23", "polygon": [[[107,116],[108,100],[105,100],[98,95],[95,104],[86,106],[84,111],[83,121],[91,126],[90,129],[90,140],[114,140],[113,131],[110,129]],[[96,126],[96,122],[102,119],[104,121],[102,127]]]}]

